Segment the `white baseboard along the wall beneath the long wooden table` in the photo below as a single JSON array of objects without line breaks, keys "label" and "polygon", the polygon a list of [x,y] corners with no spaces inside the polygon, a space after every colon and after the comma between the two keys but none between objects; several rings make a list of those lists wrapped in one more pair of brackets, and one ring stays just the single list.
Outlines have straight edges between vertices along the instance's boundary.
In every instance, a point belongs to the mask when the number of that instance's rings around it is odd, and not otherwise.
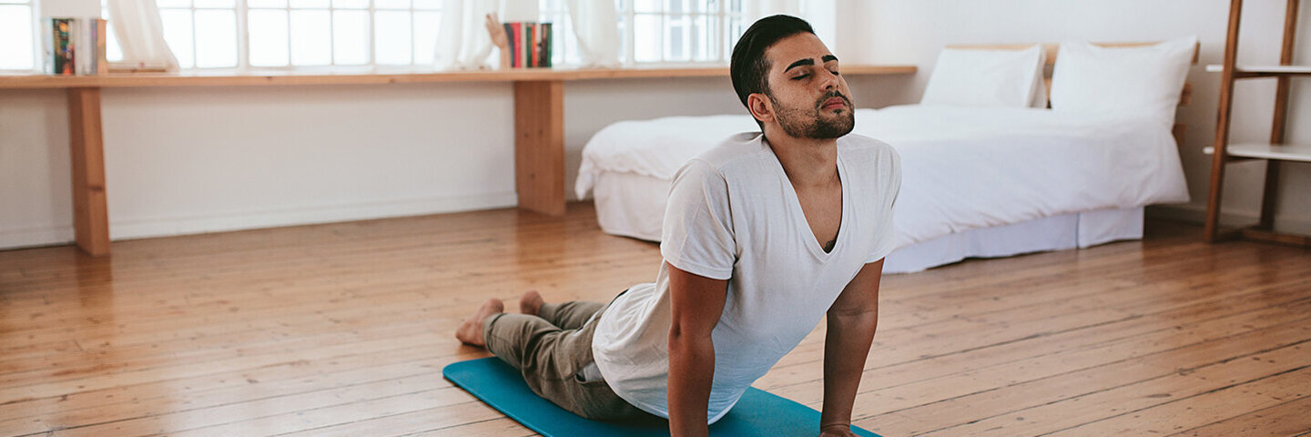
[{"label": "white baseboard along the wall beneath the long wooden table", "polygon": [[[131,240],[206,232],[227,232],[283,226],[337,223],[409,215],[475,211],[510,207],[518,202],[514,192],[471,196],[430,197],[350,205],[308,206],[279,210],[250,210],[193,217],[110,219],[110,240]],[[0,249],[63,245],[73,241],[72,223],[0,230]]]}]

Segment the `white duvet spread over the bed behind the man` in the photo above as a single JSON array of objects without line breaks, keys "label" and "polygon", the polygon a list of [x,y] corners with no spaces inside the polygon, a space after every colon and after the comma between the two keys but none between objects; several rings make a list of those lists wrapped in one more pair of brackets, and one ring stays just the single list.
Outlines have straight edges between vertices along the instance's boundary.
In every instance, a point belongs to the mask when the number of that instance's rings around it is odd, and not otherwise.
[{"label": "white duvet spread over the bed behind the man", "polygon": [[[586,197],[602,172],[671,180],[721,139],[756,130],[745,114],[617,122],[583,148],[576,190]],[[1169,127],[1145,119],[906,105],[856,110],[853,133],[901,154],[898,248],[1061,214],[1188,202]]]}]

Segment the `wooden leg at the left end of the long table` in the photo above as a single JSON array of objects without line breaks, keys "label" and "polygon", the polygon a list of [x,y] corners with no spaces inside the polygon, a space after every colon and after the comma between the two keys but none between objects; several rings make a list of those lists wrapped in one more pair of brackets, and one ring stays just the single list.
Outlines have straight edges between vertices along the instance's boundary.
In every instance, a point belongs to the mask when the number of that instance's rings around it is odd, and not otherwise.
[{"label": "wooden leg at the left end of the long table", "polygon": [[100,126],[100,88],[68,88],[68,139],[72,152],[73,232],[90,256],[109,255],[109,207],[105,201],[105,147]]}]

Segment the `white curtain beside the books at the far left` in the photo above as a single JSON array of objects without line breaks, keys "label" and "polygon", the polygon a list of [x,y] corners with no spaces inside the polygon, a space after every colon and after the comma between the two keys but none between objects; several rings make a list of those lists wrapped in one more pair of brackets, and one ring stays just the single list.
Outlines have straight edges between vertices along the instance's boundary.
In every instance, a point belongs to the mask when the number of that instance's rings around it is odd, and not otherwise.
[{"label": "white curtain beside the books at the far left", "polygon": [[123,63],[178,70],[177,56],[164,42],[164,22],[155,0],[109,0],[109,18],[114,20]]}]

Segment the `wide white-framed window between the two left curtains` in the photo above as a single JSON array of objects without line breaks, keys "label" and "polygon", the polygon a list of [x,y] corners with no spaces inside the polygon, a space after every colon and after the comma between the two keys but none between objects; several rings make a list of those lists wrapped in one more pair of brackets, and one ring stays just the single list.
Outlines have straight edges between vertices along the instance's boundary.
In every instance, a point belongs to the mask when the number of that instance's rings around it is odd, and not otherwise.
[{"label": "wide white-framed window between the two left curtains", "polygon": [[442,21],[440,0],[157,3],[182,68],[426,66]]}]

